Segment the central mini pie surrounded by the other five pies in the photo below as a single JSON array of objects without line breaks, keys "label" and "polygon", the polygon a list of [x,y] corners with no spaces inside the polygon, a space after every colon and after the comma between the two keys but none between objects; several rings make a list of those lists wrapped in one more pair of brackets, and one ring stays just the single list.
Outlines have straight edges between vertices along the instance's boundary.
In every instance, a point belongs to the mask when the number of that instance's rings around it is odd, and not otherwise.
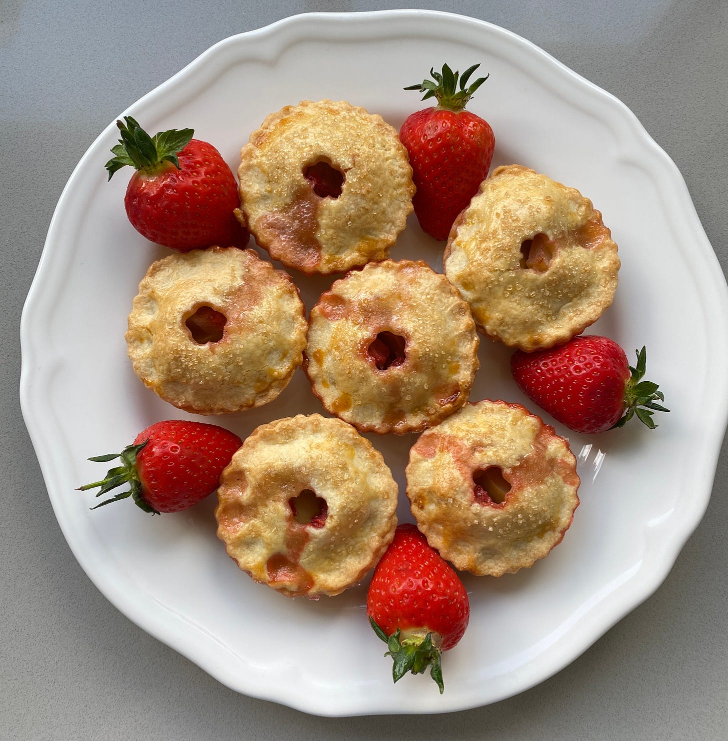
[{"label": "central mini pie surrounded by the other five pies", "polygon": [[359,431],[419,432],[467,401],[478,333],[467,304],[424,262],[370,263],[310,314],[304,371],[327,411]]}]

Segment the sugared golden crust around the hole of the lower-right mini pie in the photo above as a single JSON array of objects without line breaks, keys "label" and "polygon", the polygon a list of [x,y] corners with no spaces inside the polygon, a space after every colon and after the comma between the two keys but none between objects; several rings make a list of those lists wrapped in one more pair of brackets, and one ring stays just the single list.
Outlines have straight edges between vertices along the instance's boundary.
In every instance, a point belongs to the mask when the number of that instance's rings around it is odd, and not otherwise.
[{"label": "sugared golden crust around the hole of the lower-right mini pie", "polygon": [[[473,474],[501,468],[501,504],[475,499]],[[468,404],[421,434],[410,451],[407,497],[418,528],[456,568],[512,573],[561,542],[579,504],[567,442],[518,404]]]}]

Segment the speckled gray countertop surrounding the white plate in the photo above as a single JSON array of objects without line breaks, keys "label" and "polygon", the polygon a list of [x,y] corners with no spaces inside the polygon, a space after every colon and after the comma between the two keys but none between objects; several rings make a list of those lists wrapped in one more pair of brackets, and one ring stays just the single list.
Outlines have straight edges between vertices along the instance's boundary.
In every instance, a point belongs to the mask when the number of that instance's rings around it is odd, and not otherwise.
[{"label": "speckled gray countertop surrounding the white plate", "polygon": [[[707,514],[658,591],[555,677],[456,714],[327,720],[242,697],[121,615],[61,534],[19,408],[19,321],[76,162],[121,110],[226,36],[295,13],[390,7],[397,6],[2,0],[0,738],[728,737],[725,445]],[[409,7],[506,27],[624,101],[683,173],[725,272],[727,3],[472,0]]]}]

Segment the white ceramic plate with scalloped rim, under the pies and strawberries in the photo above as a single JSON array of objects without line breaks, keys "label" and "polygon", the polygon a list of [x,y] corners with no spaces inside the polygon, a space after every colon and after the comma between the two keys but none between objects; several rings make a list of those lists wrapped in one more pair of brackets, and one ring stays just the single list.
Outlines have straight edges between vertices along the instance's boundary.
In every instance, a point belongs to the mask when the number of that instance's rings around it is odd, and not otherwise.
[{"label": "white ceramic plate with scalloped rim, under the pies and strawberries", "polygon": [[[680,173],[623,104],[530,42],[442,13],[297,16],[221,41],[125,113],[152,132],[194,127],[236,169],[264,116],[301,99],[348,99],[399,127],[426,105],[402,87],[445,61],[460,70],[481,62],[479,71],[490,72],[470,109],[495,130],[494,166],[534,167],[578,187],[604,213],[623,268],[614,305],[591,331],[630,356],[647,344],[649,378],[672,411],[658,415],[654,432],[635,421],[587,439],[556,425],[579,457],[581,507],[564,542],[534,568],[464,576],[471,623],[444,657],[443,696],[429,677],[393,688],[390,659],[365,619],[365,585],[319,602],[285,599],[227,558],[214,502],[153,518],[128,502],[90,512],[90,495],[74,491],[98,479],[88,456],[120,450],[158,419],[185,416],[144,389],[125,354],[138,281],[165,250],[127,223],[124,174],[106,182],[113,123],[61,196],[24,310],[23,412],[81,566],[130,619],[221,682],[311,713],[470,708],[563,668],[667,575],[707,506],[726,425],[718,369],[727,350],[709,338],[727,336],[727,289]],[[441,249],[412,219],[393,256],[440,270]],[[330,284],[296,280],[309,307]],[[507,370],[510,353],[483,345],[471,398],[525,402]],[[245,436],[262,422],[315,411],[298,372],[272,404],[218,422]],[[404,465],[414,438],[370,439],[410,519]]]}]

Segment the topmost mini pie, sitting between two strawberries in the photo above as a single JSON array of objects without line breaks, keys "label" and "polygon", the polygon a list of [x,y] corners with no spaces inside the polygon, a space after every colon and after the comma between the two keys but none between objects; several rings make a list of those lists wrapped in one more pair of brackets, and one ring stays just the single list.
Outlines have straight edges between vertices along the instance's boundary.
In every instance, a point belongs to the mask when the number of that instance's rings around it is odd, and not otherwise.
[{"label": "topmost mini pie, sitting between two strawberries", "polygon": [[238,218],[270,256],[304,273],[386,258],[415,193],[396,130],[344,101],[271,113],[243,147],[238,178]]}]

